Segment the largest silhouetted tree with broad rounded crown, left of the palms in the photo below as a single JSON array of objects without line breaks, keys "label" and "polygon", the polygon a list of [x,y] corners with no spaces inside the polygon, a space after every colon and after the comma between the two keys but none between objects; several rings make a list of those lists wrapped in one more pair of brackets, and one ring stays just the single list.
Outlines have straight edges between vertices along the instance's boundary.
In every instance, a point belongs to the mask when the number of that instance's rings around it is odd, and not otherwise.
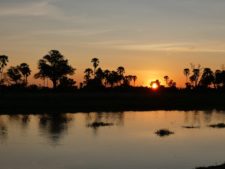
[{"label": "largest silhouetted tree with broad rounded crown, left of the palms", "polygon": [[59,80],[67,75],[73,75],[75,69],[68,64],[68,60],[57,50],[51,50],[38,63],[39,72],[35,78],[49,78],[53,88],[57,88]]}]

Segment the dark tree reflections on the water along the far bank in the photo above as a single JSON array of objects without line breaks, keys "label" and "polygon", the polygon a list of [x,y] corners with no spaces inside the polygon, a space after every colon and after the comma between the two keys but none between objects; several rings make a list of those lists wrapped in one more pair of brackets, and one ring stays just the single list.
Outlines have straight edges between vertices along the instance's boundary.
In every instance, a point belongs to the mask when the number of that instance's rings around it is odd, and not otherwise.
[{"label": "dark tree reflections on the water along the far bank", "polygon": [[[140,112],[141,113],[141,112]],[[157,113],[157,112],[149,112]],[[169,116],[169,113],[165,111]],[[208,126],[215,121],[217,123],[225,122],[225,112],[224,111],[186,111],[179,112],[184,118],[182,122],[183,128],[200,128]],[[88,127],[89,124],[105,123],[113,124],[111,127],[124,126],[125,121],[124,112],[96,112],[96,113],[83,113],[85,121],[84,124]],[[132,113],[131,113],[132,114]],[[179,114],[177,114],[179,115]],[[0,115],[0,142],[6,142],[10,136],[10,126],[16,125],[16,130],[22,129],[22,133],[29,130],[30,126],[37,122],[39,132],[41,136],[49,139],[53,144],[58,144],[60,140],[66,135],[68,129],[70,128],[71,121],[76,117],[76,114],[62,114],[62,113],[52,113],[52,114],[39,114],[39,115]],[[32,125],[31,125],[32,124]],[[82,123],[83,124],[83,123]],[[150,124],[151,125],[151,124]],[[19,128],[17,128],[19,126]],[[185,127],[184,127],[185,126]],[[92,130],[95,135],[101,130],[101,127],[110,127],[100,125],[100,127],[93,127],[88,130]]]}]

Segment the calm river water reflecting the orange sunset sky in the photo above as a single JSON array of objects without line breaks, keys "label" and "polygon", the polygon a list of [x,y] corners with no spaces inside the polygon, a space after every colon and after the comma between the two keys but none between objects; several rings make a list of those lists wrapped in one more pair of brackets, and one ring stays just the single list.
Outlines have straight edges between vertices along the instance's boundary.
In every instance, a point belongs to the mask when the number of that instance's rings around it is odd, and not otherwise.
[{"label": "calm river water reflecting the orange sunset sky", "polygon": [[[92,122],[113,126],[90,128]],[[225,162],[225,112],[0,116],[3,169],[193,169]],[[183,126],[200,128],[186,129]],[[155,134],[167,128],[167,137]]]}]

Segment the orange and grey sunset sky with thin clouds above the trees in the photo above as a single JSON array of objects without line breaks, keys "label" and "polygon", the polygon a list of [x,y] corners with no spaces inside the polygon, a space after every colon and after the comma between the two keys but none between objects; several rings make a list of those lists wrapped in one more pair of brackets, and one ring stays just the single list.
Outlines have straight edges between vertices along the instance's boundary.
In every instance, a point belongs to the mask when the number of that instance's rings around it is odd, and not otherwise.
[{"label": "orange and grey sunset sky with thin clouds above the trees", "polygon": [[104,69],[136,74],[138,85],[168,75],[182,86],[191,63],[225,64],[224,16],[224,0],[0,0],[0,54],[36,73],[57,49],[78,82],[98,57]]}]

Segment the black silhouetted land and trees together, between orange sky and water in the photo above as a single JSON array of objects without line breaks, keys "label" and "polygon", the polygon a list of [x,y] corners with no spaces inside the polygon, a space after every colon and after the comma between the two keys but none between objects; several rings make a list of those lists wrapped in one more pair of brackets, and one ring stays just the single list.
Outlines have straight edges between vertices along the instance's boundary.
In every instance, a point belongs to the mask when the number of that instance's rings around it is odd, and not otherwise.
[{"label": "black silhouetted land and trees together, between orange sky and water", "polygon": [[186,87],[182,89],[167,75],[164,86],[156,79],[149,87],[141,87],[136,86],[137,76],[127,75],[123,66],[104,70],[99,59],[93,58],[92,68],[84,70],[84,81],[78,85],[70,78],[76,69],[59,51],[52,50],[38,61],[34,77],[44,85],[37,86],[28,83],[31,69],[27,63],[4,71],[8,62],[8,56],[0,55],[1,113],[225,110],[224,68],[213,71],[191,65],[183,70]]}]

